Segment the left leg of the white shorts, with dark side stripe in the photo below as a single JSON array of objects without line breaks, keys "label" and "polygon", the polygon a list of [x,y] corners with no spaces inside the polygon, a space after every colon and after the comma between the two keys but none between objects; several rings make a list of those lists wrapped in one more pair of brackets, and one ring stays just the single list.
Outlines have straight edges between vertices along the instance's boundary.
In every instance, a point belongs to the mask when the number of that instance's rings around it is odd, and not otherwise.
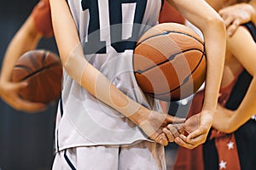
[{"label": "left leg of the white shorts, with dark side stripe", "polygon": [[119,147],[89,146],[61,150],[53,170],[118,169]]}]

